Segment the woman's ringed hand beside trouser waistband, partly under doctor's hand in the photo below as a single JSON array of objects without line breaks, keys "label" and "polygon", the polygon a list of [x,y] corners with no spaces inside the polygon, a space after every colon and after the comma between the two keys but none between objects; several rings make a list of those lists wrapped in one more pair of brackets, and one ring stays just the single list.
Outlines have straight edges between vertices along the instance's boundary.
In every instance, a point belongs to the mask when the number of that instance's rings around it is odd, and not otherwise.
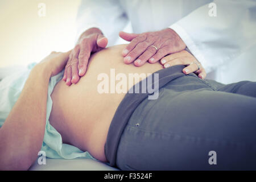
[{"label": "woman's ringed hand beside trouser waistband, partly under doctor's hand", "polygon": [[163,57],[160,60],[160,63],[164,68],[172,67],[174,65],[187,65],[187,67],[183,69],[183,73],[186,75],[195,72],[201,79],[204,79],[207,76],[201,63],[197,61],[191,53],[185,50]]}]

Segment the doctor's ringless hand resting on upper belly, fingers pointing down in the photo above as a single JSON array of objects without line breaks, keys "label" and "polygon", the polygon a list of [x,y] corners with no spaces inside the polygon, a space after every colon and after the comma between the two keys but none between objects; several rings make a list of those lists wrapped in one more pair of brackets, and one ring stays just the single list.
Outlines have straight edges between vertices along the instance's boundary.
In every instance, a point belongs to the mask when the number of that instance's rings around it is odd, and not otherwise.
[{"label": "doctor's ringless hand resting on upper belly, fingers pointing down", "polygon": [[69,54],[63,80],[67,85],[76,84],[85,75],[90,53],[100,51],[108,44],[108,39],[98,28],[89,28],[79,38],[77,45]]}]

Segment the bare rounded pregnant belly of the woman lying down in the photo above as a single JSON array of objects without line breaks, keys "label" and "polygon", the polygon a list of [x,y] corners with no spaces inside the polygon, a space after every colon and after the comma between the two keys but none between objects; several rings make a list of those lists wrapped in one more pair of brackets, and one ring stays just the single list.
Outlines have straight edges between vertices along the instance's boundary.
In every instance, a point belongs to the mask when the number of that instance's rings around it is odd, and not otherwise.
[{"label": "bare rounded pregnant belly of the woman lying down", "polygon": [[[63,142],[88,151],[103,162],[110,122],[127,90],[148,73],[162,69],[159,63],[142,67],[124,64],[123,48],[125,45],[95,53],[90,57],[86,75],[77,84],[67,86],[60,81],[51,96],[49,122],[59,131]],[[131,79],[131,75],[138,79]]]}]

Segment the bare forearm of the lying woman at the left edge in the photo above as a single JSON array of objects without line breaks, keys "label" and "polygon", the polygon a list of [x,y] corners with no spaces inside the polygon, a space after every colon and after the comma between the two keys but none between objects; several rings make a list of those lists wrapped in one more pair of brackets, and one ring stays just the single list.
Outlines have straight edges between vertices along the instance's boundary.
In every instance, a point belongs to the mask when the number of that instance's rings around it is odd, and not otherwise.
[{"label": "bare forearm of the lying woman at the left edge", "polygon": [[51,73],[36,65],[0,129],[0,169],[28,169],[42,146]]}]

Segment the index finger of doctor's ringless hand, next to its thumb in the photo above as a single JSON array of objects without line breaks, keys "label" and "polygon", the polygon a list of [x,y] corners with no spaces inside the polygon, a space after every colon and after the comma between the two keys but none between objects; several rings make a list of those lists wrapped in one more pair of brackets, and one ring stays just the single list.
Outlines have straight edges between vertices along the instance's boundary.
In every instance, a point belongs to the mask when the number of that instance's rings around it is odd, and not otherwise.
[{"label": "index finger of doctor's ringless hand, next to its thumb", "polygon": [[79,76],[84,76],[86,69],[87,69],[87,64],[89,61],[90,57],[90,52],[92,51],[92,47],[90,44],[90,40],[84,39],[81,43],[81,48],[80,48],[80,53],[79,53]]}]

